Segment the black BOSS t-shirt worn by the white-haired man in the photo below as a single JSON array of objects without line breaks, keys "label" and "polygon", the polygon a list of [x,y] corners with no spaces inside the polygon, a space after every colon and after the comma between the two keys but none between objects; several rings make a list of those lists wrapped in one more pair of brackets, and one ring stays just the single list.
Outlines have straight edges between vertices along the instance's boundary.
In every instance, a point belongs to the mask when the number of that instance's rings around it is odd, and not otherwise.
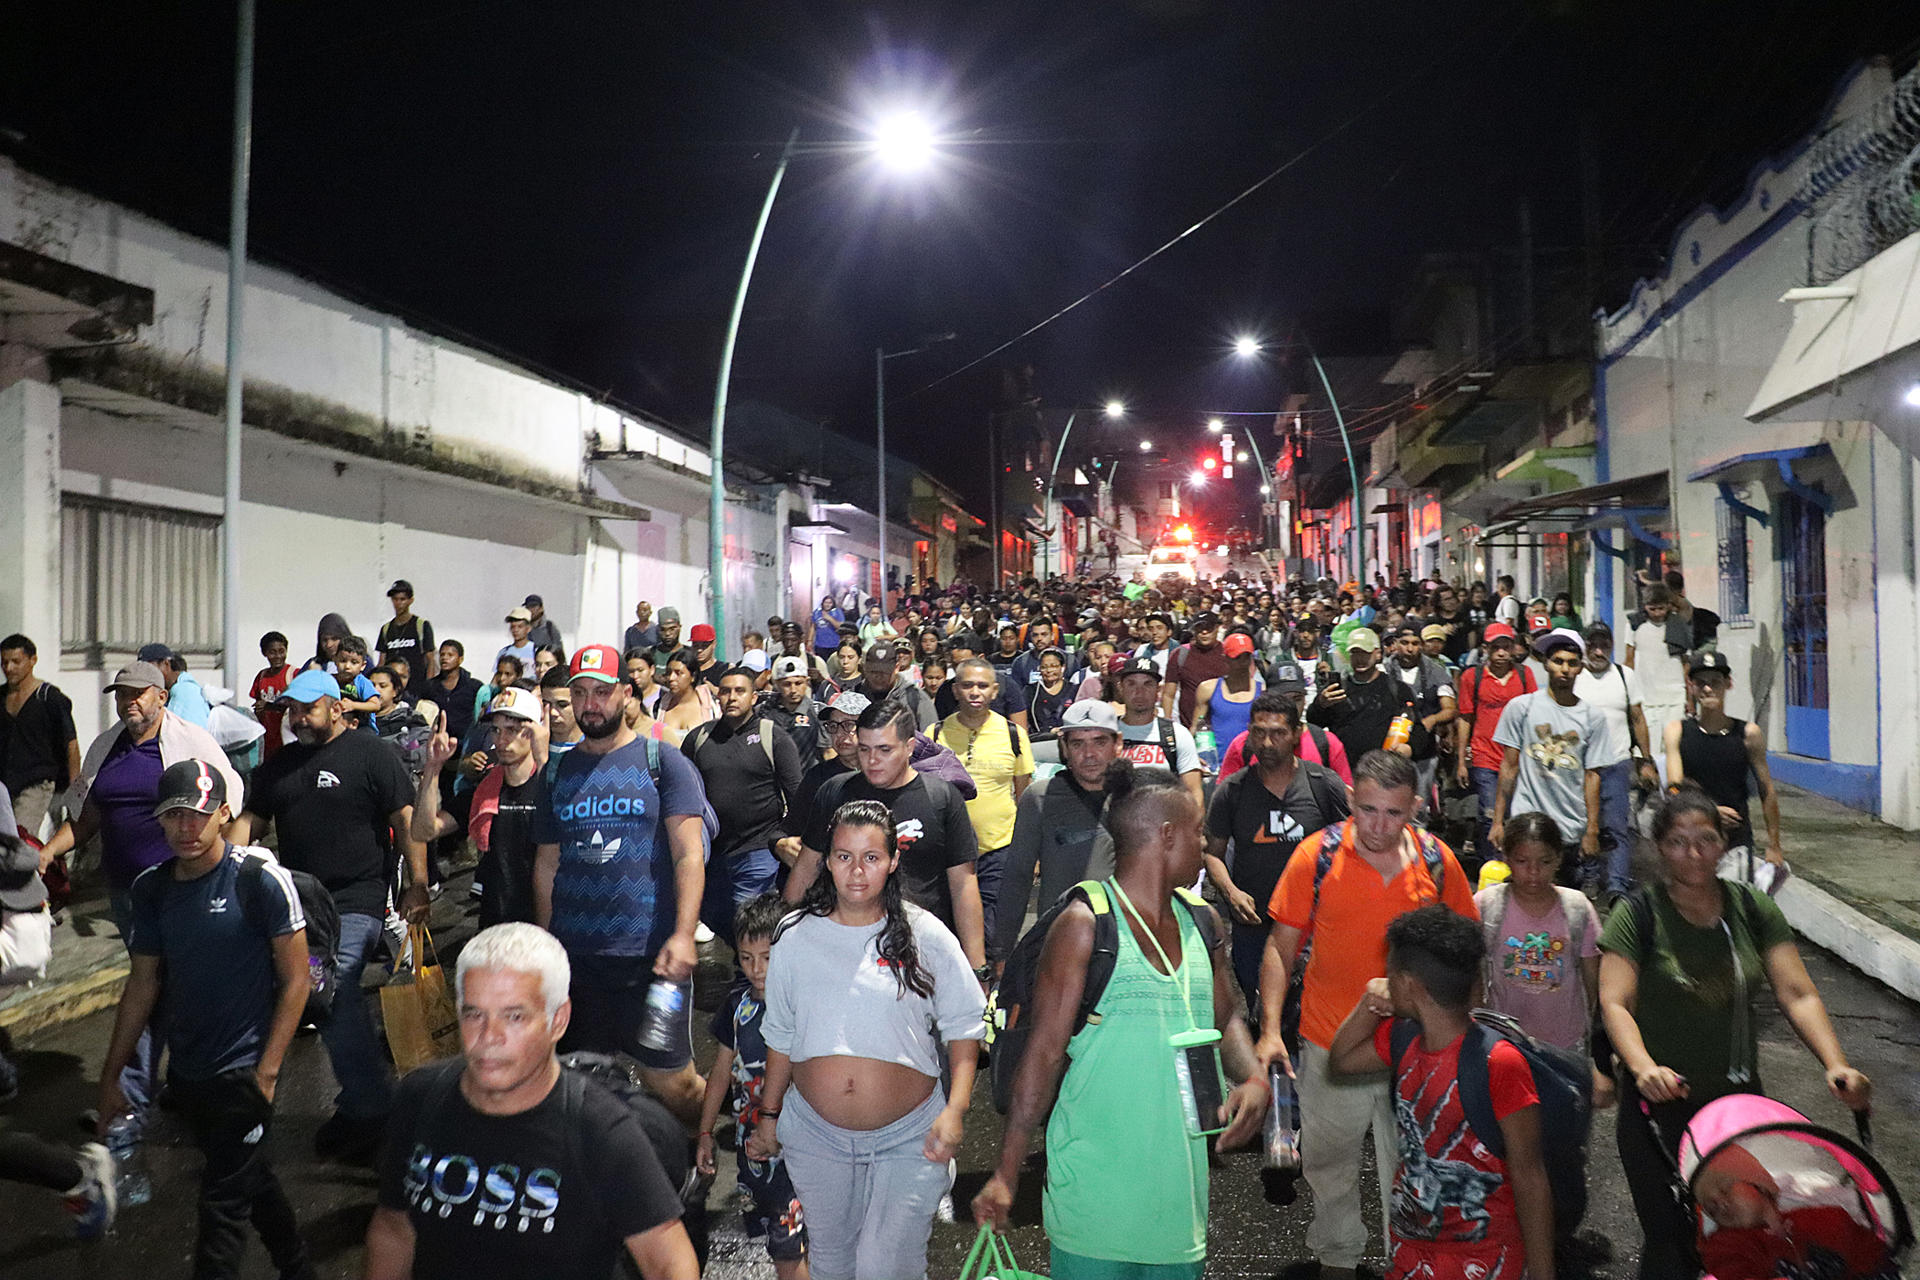
[{"label": "black BOSS t-shirt worn by the white-haired man", "polygon": [[[465,1059],[409,1073],[380,1159],[380,1207],[413,1224],[415,1280],[611,1276],[628,1236],[680,1217],[680,1194],[639,1121],[582,1080],[518,1115],[461,1094]],[[568,1140],[572,1125],[572,1140]]]}]

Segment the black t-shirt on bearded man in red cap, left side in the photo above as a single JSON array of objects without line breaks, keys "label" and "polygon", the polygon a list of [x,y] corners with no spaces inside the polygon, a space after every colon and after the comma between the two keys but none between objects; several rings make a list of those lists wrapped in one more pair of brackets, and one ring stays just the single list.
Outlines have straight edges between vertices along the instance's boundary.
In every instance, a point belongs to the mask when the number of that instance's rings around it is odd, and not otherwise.
[{"label": "black t-shirt on bearded man in red cap, left side", "polygon": [[246,806],[273,819],[280,862],[315,877],[342,915],[386,912],[396,810],[413,779],[392,743],[348,729],[330,743],[292,743],[253,771]]}]

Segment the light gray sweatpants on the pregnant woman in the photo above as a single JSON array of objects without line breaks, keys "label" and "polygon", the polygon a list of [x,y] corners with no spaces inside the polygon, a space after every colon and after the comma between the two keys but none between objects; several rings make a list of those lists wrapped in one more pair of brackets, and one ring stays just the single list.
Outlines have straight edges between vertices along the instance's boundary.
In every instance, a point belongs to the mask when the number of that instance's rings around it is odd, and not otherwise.
[{"label": "light gray sweatpants on the pregnant woman", "polygon": [[941,1090],[881,1128],[841,1128],[806,1105],[781,1100],[778,1134],[793,1194],[806,1215],[806,1265],[814,1280],[916,1280],[927,1274],[927,1236],[952,1163],[924,1153],[947,1105]]}]

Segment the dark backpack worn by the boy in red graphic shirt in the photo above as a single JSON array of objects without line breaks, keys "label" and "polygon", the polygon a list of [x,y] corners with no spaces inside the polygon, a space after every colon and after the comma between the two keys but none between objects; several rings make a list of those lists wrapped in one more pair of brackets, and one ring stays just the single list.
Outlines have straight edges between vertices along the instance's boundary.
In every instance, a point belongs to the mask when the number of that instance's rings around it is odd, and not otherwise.
[{"label": "dark backpack worn by the boy in red graphic shirt", "polygon": [[[1400,1075],[1400,1057],[1421,1034],[1421,1025],[1396,1017],[1392,1031],[1392,1065]],[[1572,1236],[1586,1215],[1586,1136],[1594,1119],[1594,1067],[1584,1054],[1557,1044],[1534,1040],[1519,1021],[1494,1009],[1475,1009],[1473,1025],[1459,1046],[1459,1107],[1467,1126],[1498,1159],[1507,1157],[1507,1138],[1494,1115],[1494,1092],[1488,1082],[1488,1054],[1505,1040],[1526,1059],[1534,1073],[1534,1092],[1540,1094],[1540,1159],[1546,1163],[1548,1188],[1553,1192],[1553,1234]]]}]

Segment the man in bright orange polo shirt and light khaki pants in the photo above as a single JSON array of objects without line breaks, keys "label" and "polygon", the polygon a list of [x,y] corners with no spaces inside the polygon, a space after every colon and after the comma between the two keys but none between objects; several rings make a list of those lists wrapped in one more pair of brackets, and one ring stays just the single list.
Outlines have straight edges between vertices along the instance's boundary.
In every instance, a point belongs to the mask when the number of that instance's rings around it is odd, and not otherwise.
[{"label": "man in bright orange polo shirt and light khaki pants", "polygon": [[[1367,1249],[1359,1209],[1361,1140],[1373,1126],[1380,1171],[1380,1221],[1390,1221],[1388,1192],[1398,1153],[1388,1079],[1327,1071],[1327,1052],[1346,1013],[1371,979],[1386,973],[1386,925],[1398,915],[1442,902],[1467,919],[1473,885],[1453,850],[1413,825],[1419,775],[1413,762],[1369,750],[1354,766],[1354,816],[1308,837],[1281,873],[1267,915],[1273,929],[1260,969],[1261,1065],[1283,1063],[1300,1092],[1300,1163],[1313,1188],[1308,1247],[1327,1280],[1354,1280]],[[1302,942],[1311,950],[1302,954]],[[1294,963],[1304,967],[1300,992],[1300,1063],[1281,1040],[1281,1015]]]}]

